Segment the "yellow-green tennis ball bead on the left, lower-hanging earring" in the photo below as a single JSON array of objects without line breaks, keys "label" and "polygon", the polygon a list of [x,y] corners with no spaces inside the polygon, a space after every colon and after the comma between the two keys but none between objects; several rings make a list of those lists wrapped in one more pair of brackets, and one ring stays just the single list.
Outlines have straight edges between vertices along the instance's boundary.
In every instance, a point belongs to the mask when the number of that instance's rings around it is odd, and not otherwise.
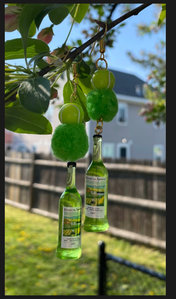
[{"label": "yellow-green tennis ball bead on the left, lower-hanging earring", "polygon": [[82,107],[75,103],[63,105],[59,111],[59,120],[62,124],[80,124],[84,119]]}]

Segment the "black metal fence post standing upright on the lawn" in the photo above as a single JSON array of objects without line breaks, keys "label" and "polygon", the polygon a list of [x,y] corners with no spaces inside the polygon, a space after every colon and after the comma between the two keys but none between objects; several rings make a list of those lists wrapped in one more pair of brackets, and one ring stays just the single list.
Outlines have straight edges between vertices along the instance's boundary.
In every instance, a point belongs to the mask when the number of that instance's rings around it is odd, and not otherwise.
[{"label": "black metal fence post standing upright on the lawn", "polygon": [[106,253],[104,242],[99,241],[99,289],[98,295],[106,296]]}]

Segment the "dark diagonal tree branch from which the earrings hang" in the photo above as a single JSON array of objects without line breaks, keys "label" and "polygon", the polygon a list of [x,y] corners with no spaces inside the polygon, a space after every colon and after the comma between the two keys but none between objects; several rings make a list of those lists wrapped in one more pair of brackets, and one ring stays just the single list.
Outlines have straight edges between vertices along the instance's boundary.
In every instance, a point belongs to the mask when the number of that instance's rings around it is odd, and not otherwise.
[{"label": "dark diagonal tree branch from which the earrings hang", "polygon": [[[147,8],[148,6],[152,5],[153,3],[144,3],[140,6],[138,6],[137,8],[134,8],[132,11],[129,11],[128,13],[124,14],[123,16],[119,17],[118,19],[116,19],[115,21],[107,24],[107,31],[109,31],[110,29],[112,29],[113,27],[115,27],[116,25],[122,23],[123,21],[127,20],[128,18],[132,17],[132,16],[137,16],[139,14],[139,12],[143,11],[145,8]],[[116,5],[117,6],[117,5]],[[115,8],[116,8],[115,6]],[[114,9],[115,9],[114,8]],[[114,10],[113,10],[114,11]],[[112,11],[112,13],[113,13]],[[105,24],[101,21],[97,21],[95,20],[95,22],[103,27],[103,29],[98,32],[96,35],[94,35],[92,38],[90,38],[88,41],[86,41],[84,44],[82,44],[80,47],[76,48],[74,51],[70,52],[69,55],[67,56],[67,59],[72,59],[74,60],[76,58],[76,56],[78,56],[81,52],[83,52],[87,47],[89,47],[92,43],[94,43],[94,41],[96,41],[97,39],[99,39],[102,35],[104,35],[105,32]],[[62,60],[64,59],[64,57],[62,58]],[[38,72],[38,75],[40,77],[43,77],[45,74],[47,74],[49,71],[51,71],[53,68],[55,68],[55,66],[53,65],[53,67],[47,66],[45,68],[43,68],[40,72]],[[18,87],[18,86],[17,86]],[[17,88],[16,87],[16,88]],[[13,89],[10,91],[12,92]],[[10,93],[9,92],[9,93]],[[8,93],[5,94],[5,97],[8,95]],[[15,94],[13,95],[13,97],[15,96]],[[11,97],[10,97],[11,98]],[[10,101],[10,98],[8,99]],[[7,100],[7,101],[8,101]]]}]

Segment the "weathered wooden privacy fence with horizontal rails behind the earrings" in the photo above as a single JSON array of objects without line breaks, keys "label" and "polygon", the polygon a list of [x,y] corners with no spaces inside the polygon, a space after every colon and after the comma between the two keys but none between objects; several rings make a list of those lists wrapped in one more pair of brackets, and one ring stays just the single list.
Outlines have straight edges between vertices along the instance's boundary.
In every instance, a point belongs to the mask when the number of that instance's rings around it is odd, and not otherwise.
[{"label": "weathered wooden privacy fence with horizontal rails behind the earrings", "polygon": [[[76,186],[84,201],[90,157],[77,163]],[[148,165],[104,163],[109,173],[107,233],[166,248],[166,169]],[[42,154],[7,152],[5,203],[58,219],[66,184],[65,162]]]}]

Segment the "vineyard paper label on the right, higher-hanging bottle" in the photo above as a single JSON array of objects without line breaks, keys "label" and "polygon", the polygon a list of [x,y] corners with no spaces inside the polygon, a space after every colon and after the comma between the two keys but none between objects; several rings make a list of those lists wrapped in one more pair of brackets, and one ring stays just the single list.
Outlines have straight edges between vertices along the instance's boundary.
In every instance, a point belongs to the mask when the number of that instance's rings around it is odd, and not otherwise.
[{"label": "vineyard paper label on the right, higher-hanging bottle", "polygon": [[85,214],[90,218],[104,218],[104,197],[106,192],[106,177],[86,176]]}]

